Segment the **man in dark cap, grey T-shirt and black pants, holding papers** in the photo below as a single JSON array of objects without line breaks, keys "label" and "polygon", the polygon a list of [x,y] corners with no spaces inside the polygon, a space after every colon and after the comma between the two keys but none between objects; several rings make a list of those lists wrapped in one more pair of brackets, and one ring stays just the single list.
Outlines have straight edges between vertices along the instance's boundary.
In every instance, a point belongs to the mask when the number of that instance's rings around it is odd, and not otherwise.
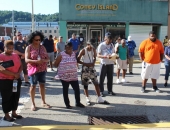
[{"label": "man in dark cap, grey T-shirt and black pants, holding papers", "polygon": [[99,87],[101,96],[104,96],[104,79],[107,75],[107,89],[109,95],[115,95],[112,91],[113,86],[113,60],[110,60],[111,55],[115,52],[112,44],[112,36],[110,32],[105,34],[104,42],[102,42],[97,49],[97,56],[100,58],[100,76],[99,76]]}]

